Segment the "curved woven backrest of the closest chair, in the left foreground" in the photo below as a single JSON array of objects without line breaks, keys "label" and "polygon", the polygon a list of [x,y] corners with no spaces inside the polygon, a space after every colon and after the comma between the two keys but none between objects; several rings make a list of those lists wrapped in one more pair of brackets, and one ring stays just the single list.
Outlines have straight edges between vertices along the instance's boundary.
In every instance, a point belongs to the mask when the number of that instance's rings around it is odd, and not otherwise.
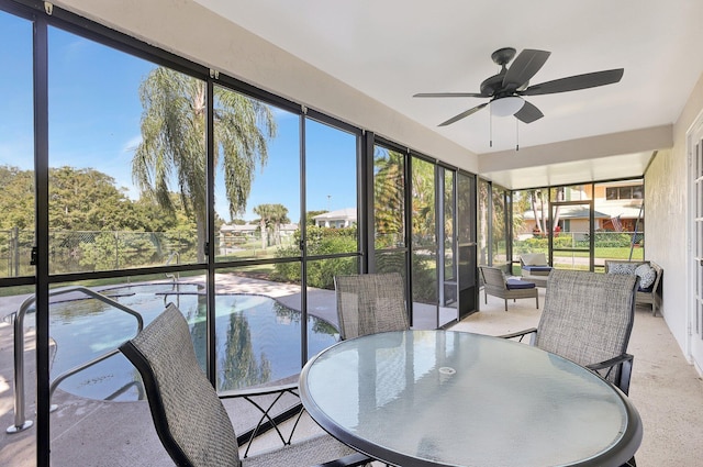
[{"label": "curved woven backrest of the closest chair, in the left foreground", "polygon": [[142,375],[164,447],[179,466],[238,466],[232,422],[193,351],[172,303],[120,351]]}]

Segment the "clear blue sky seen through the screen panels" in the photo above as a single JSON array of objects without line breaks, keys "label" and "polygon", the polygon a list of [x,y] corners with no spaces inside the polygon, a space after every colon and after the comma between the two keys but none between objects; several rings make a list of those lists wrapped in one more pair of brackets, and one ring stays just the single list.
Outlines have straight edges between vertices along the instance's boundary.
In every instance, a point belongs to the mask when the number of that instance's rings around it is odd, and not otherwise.
[{"label": "clear blue sky seen through the screen panels", "polygon": [[[0,12],[0,164],[33,168],[32,27]],[[91,167],[112,176],[131,198],[131,160],[141,141],[138,87],[154,64],[74,34],[49,29],[49,164]],[[281,203],[300,212],[299,116],[276,110],[278,134],[268,164],[258,170],[242,218]],[[309,210],[356,205],[355,137],[326,125],[306,125]],[[217,213],[230,221],[222,180],[215,180]]]}]

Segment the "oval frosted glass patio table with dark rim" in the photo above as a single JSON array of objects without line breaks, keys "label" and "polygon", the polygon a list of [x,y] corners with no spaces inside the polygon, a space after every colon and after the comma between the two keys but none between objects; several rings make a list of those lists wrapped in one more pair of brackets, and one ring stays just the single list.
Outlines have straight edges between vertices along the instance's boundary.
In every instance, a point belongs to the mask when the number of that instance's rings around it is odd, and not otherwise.
[{"label": "oval frosted glass patio table with dark rim", "polygon": [[616,467],[643,435],[629,400],[588,369],[466,332],[343,341],[305,365],[300,391],[331,435],[398,466]]}]

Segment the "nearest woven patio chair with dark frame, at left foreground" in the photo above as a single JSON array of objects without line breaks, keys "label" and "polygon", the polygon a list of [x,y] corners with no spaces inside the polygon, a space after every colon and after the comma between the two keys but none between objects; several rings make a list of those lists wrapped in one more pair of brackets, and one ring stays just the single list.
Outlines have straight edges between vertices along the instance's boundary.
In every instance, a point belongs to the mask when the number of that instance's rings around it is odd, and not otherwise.
[{"label": "nearest woven patio chair with dark frame, at left foreground", "polygon": [[[341,467],[370,462],[321,431],[300,442],[291,442],[292,433],[283,438],[278,420],[266,411],[265,423],[259,422],[256,429],[266,425],[276,430],[282,446],[253,456],[243,453],[242,457],[246,458],[242,463],[232,421],[202,373],[188,323],[174,304],[136,337],[124,343],[120,351],[142,375],[156,432],[178,466],[288,467],[327,463],[322,465]],[[294,393],[290,388],[284,392]],[[252,391],[242,394],[249,400]],[[231,396],[237,397],[236,393]],[[302,411],[302,404],[292,410]],[[259,411],[264,412],[260,408]]]}]

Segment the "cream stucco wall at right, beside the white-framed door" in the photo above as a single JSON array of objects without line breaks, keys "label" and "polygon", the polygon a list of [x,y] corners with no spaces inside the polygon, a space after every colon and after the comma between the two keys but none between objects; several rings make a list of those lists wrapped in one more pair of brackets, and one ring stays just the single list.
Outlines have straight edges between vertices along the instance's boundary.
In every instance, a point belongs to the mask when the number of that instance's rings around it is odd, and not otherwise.
[{"label": "cream stucco wall at right, beside the white-framed door", "polygon": [[657,154],[645,174],[645,255],[663,274],[663,318],[683,354],[689,356],[688,275],[689,173],[687,131],[703,111],[703,76],[699,79],[673,131],[673,147]]}]

